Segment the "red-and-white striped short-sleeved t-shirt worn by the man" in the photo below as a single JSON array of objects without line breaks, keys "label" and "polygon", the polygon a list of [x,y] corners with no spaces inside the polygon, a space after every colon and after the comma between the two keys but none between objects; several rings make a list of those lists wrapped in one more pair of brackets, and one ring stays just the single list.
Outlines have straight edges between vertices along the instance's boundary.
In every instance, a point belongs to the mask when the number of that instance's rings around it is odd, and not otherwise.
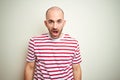
[{"label": "red-and-white striped short-sleeved t-shirt worn by the man", "polygon": [[72,64],[81,62],[78,41],[64,34],[52,39],[48,33],[32,37],[28,62],[35,62],[34,80],[74,80]]}]

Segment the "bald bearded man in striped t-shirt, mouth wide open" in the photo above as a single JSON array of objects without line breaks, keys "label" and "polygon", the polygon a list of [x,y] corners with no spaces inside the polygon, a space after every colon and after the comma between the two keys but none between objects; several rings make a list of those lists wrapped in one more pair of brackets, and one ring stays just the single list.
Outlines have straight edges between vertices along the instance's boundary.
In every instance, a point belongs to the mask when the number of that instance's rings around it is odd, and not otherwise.
[{"label": "bald bearded man in striped t-shirt, mouth wide open", "polygon": [[25,80],[81,80],[81,55],[78,41],[62,30],[64,12],[51,7],[44,21],[49,33],[29,41]]}]

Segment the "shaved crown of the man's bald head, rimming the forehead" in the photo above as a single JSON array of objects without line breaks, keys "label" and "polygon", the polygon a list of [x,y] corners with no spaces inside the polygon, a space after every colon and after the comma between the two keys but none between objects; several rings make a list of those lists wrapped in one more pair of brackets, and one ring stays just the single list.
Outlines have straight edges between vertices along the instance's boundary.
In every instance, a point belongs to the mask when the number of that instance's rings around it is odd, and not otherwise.
[{"label": "shaved crown of the man's bald head, rimming the forehead", "polygon": [[50,13],[59,13],[61,15],[63,15],[64,18],[64,12],[61,8],[57,7],[57,6],[53,6],[50,7],[47,11],[46,11],[46,19],[48,18]]}]

